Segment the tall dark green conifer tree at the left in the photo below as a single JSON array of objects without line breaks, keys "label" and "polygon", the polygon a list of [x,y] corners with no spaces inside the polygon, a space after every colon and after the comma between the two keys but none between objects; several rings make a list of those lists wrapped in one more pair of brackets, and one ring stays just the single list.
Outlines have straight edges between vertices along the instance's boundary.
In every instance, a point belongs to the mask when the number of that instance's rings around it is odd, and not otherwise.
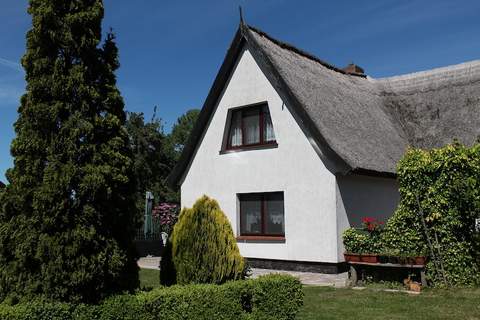
[{"label": "tall dark green conifer tree at the left", "polygon": [[133,161],[101,0],[30,0],[14,168],[0,213],[0,300],[95,302],[138,286]]}]

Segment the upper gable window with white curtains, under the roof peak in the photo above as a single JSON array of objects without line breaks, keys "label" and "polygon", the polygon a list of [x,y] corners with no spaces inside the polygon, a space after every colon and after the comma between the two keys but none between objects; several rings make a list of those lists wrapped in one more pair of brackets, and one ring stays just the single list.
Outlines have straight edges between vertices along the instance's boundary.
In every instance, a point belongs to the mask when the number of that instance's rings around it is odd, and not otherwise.
[{"label": "upper gable window with white curtains, under the roof peak", "polygon": [[275,133],[267,105],[232,112],[227,149],[268,144],[275,144]]}]

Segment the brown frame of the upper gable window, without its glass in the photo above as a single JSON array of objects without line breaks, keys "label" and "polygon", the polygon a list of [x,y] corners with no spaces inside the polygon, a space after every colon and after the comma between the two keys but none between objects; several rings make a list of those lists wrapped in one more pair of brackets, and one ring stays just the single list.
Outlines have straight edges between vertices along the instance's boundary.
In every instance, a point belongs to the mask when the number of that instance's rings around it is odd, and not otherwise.
[{"label": "brown frame of the upper gable window, without its glass", "polygon": [[[267,109],[268,112],[265,112],[264,109]],[[258,113],[259,113],[259,117],[258,117],[258,121],[259,121],[259,137],[260,137],[260,141],[257,142],[257,143],[250,143],[250,144],[244,144],[244,137],[245,137],[245,125],[244,125],[244,114],[243,113],[246,113],[246,112],[252,112],[252,111],[257,111],[258,110]],[[231,141],[230,141],[230,137],[231,137],[231,131],[232,131],[232,123],[233,123],[233,119],[235,118],[235,114],[237,112],[242,112],[242,117],[241,117],[241,129],[242,129],[242,144],[241,145],[238,145],[238,146],[232,146],[231,145]],[[229,120],[229,123],[228,123],[228,130],[227,130],[227,135],[226,135],[226,144],[225,144],[225,150],[226,151],[235,151],[235,150],[242,150],[242,149],[248,149],[248,148],[255,148],[255,147],[263,147],[263,146],[277,146],[277,138],[275,137],[275,140],[269,140],[269,141],[265,141],[265,137],[264,137],[264,132],[265,132],[265,114],[268,113],[270,114],[270,110],[268,109],[268,104],[267,103],[260,103],[260,104],[255,104],[255,105],[250,105],[250,106],[245,106],[245,107],[240,107],[240,108],[236,108],[234,110],[231,111],[231,116],[230,116],[230,120]],[[271,120],[271,116],[270,116],[270,120]],[[273,123],[272,123],[272,126],[273,126]],[[274,132],[275,132],[275,129],[274,129]]]}]

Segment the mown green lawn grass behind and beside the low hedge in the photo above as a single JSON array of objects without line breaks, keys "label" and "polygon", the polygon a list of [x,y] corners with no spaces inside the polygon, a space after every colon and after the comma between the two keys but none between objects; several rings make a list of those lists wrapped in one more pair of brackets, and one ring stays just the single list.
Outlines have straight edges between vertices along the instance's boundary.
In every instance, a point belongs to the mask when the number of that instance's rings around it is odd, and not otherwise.
[{"label": "mown green lawn grass behind and beside the low hedge", "polygon": [[[159,271],[140,269],[140,284],[160,286]],[[480,288],[427,289],[420,295],[305,286],[297,319],[462,319],[480,320]]]}]

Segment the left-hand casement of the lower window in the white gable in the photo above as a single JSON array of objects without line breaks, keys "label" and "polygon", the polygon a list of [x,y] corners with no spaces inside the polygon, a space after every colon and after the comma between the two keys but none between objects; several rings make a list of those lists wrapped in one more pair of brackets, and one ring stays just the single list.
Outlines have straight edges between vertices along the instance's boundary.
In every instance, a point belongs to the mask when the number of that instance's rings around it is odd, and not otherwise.
[{"label": "left-hand casement of the lower window in the white gable", "polygon": [[262,233],[262,200],[260,195],[241,195],[240,214],[240,233]]}]

